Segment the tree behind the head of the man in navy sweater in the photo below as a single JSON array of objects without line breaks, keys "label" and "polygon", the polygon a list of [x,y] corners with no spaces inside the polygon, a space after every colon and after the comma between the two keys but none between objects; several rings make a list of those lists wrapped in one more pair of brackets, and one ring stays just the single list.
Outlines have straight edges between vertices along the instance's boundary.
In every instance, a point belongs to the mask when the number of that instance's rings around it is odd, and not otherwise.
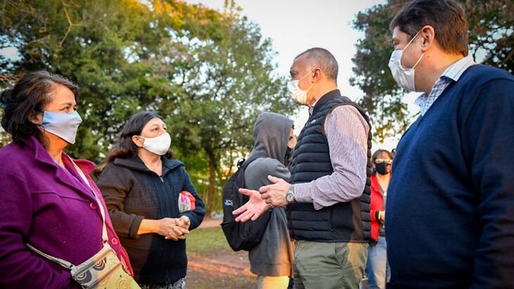
[{"label": "tree behind the head of the man in navy sweater", "polygon": [[[390,0],[359,12],[354,28],[364,32],[352,58],[355,77],[365,96],[360,104],[368,110],[375,136],[384,141],[404,131],[411,122],[402,98],[403,90],[394,82],[387,63],[392,53],[389,23],[409,1]],[[470,33],[470,54],[475,61],[493,65],[510,73],[514,71],[514,10],[511,0],[460,1],[465,8]]]}]

